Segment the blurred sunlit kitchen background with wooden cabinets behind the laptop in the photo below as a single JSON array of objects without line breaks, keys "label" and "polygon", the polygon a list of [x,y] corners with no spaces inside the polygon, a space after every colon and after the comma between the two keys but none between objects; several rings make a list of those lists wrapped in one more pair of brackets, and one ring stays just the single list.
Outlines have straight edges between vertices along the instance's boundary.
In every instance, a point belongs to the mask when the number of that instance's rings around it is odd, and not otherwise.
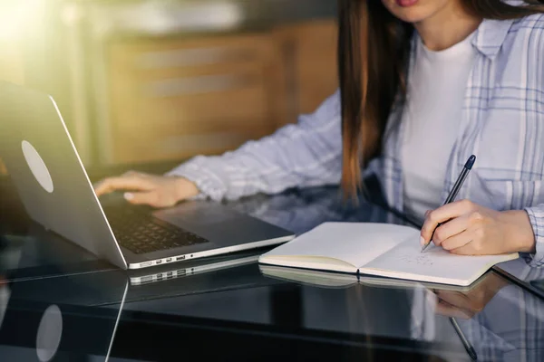
[{"label": "blurred sunlit kitchen background with wooden cabinets behind the laptop", "polygon": [[336,0],[0,0],[0,80],[53,95],[86,167],[181,162],[333,93],[335,14]]}]

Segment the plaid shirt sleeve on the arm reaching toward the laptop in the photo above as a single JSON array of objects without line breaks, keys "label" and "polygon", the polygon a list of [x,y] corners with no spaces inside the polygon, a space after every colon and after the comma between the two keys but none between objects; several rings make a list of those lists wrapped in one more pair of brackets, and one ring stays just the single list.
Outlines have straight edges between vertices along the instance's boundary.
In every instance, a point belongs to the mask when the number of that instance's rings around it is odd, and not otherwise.
[{"label": "plaid shirt sleeve on the arm reaching toward the laptop", "polygon": [[336,91],[310,115],[273,135],[248,141],[222,156],[191,158],[168,172],[200,190],[197,198],[238,199],[290,187],[338,184],[342,167],[340,96]]}]

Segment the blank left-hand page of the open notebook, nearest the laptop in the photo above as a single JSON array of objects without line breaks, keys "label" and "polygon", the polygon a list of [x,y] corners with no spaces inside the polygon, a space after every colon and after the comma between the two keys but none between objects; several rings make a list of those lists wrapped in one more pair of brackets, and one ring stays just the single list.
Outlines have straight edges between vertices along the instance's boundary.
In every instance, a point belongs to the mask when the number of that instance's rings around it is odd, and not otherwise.
[{"label": "blank left-hand page of the open notebook, nearest the laptop", "polygon": [[[412,234],[419,235],[419,231],[395,224],[324,223],[263,254],[259,262],[300,267],[307,263],[306,267],[312,264],[314,268],[322,269],[316,263],[335,259],[353,266],[355,272],[360,265],[372,261]],[[335,270],[341,269],[335,267]]]}]

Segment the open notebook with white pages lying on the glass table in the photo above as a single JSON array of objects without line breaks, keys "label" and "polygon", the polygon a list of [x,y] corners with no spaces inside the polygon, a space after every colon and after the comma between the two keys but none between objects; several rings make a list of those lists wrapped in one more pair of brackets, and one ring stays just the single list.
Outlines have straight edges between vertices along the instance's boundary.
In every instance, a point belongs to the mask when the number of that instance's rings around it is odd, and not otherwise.
[{"label": "open notebook with white pages lying on the glass table", "polygon": [[430,245],[421,252],[420,231],[374,223],[324,223],[261,255],[270,265],[369,274],[412,281],[467,286],[491,266],[518,258],[455,255]]}]

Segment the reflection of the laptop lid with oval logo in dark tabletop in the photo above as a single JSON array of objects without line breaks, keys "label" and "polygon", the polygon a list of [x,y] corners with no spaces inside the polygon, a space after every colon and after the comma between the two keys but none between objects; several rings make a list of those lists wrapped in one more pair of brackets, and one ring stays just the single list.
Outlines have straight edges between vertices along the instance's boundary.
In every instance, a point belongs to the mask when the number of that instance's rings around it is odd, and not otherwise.
[{"label": "reflection of the laptop lid with oval logo in dark tabletop", "polygon": [[126,295],[117,308],[78,310],[71,305],[25,300],[18,284],[0,284],[0,360],[107,360]]}]

